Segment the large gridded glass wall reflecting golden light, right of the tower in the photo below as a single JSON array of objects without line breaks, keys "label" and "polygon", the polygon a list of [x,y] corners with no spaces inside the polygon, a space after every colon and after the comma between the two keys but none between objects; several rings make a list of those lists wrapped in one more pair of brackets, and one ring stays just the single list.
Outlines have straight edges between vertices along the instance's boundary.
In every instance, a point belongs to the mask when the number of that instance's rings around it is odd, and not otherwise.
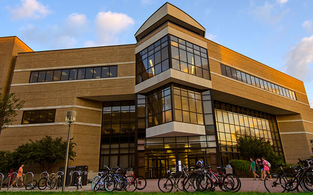
[{"label": "large gridded glass wall reflecting golden light, right of the tower", "polygon": [[231,159],[240,159],[236,135],[265,138],[272,143],[276,154],[283,155],[274,115],[219,101],[214,101],[214,112],[222,165]]}]

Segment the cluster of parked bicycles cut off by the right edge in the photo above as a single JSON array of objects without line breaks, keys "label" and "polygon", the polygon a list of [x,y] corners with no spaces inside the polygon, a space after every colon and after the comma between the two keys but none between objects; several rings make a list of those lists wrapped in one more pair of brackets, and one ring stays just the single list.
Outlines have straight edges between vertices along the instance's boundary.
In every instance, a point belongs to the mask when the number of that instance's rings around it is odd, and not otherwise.
[{"label": "cluster of parked bicycles cut off by the right edge", "polygon": [[[313,159],[299,159],[297,166],[283,170],[283,164],[277,164],[281,171],[278,174],[269,174],[264,179],[268,192],[313,192]],[[300,187],[300,188],[299,188]]]}]

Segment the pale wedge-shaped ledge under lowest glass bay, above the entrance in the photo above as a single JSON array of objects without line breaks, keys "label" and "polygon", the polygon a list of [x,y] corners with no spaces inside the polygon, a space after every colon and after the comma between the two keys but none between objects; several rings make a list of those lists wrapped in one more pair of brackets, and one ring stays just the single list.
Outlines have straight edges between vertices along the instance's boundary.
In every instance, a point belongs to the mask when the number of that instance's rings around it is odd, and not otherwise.
[{"label": "pale wedge-shaped ledge under lowest glass bay, above the entrance", "polygon": [[205,127],[204,125],[172,121],[146,129],[146,137],[180,136],[205,136]]}]

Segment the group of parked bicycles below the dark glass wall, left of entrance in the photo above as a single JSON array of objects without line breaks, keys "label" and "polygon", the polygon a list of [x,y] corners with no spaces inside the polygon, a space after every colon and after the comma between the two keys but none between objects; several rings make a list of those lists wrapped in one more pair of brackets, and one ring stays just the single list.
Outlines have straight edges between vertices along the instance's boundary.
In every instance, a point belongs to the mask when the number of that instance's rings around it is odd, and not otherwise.
[{"label": "group of parked bicycles below the dark glass wall, left of entrance", "polygon": [[92,179],[91,189],[94,192],[98,190],[134,192],[136,189],[143,190],[147,186],[147,180],[143,176],[135,177],[134,174],[119,167],[115,167],[115,169],[110,169],[105,165],[104,167],[107,171],[99,172],[99,176]]}]

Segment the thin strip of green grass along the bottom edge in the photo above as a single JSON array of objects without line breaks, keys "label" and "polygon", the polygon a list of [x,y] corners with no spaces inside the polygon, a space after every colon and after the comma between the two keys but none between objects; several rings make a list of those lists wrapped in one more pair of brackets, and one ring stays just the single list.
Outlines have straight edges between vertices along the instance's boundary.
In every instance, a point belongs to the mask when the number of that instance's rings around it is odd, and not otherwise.
[{"label": "thin strip of green grass along the bottom edge", "polygon": [[[101,192],[101,193],[94,193],[94,192],[0,192],[0,195],[97,195],[97,194],[105,194],[105,195],[264,195],[264,194],[270,194],[270,195],[278,195],[279,193],[261,193],[261,192],[240,192],[240,193],[231,193],[231,192],[210,192],[210,193],[201,193],[201,192],[195,192],[195,193],[184,193],[184,192],[178,192],[178,193],[160,193],[160,192]],[[286,193],[285,193],[286,194]],[[297,193],[297,195],[308,195],[308,193]]]}]

